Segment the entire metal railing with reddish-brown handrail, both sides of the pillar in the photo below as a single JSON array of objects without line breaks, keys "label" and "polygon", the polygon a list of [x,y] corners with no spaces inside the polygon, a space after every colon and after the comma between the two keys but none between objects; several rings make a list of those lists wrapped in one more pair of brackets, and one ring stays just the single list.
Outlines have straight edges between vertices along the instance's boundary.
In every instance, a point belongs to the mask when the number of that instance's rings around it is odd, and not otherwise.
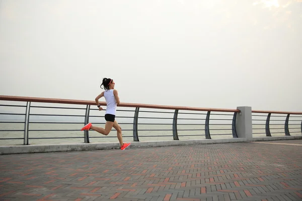
[{"label": "entire metal railing with reddish-brown handrail, both sides of the pillar", "polygon": [[[81,128],[83,125],[88,124],[91,122],[92,124],[101,124],[101,121],[96,121],[97,118],[102,118],[104,121],[104,116],[98,113],[93,114],[98,109],[96,107],[96,103],[93,101],[86,101],[86,100],[70,100],[70,99],[55,99],[55,98],[37,98],[37,97],[23,97],[23,96],[5,96],[1,95],[0,100],[2,102],[6,102],[4,104],[0,104],[0,111],[1,108],[7,109],[8,112],[0,112],[0,117],[5,116],[0,119],[0,142],[4,140],[23,140],[24,145],[29,145],[30,140],[54,140],[54,139],[83,139],[84,143],[90,143],[92,139],[95,138],[116,138],[116,136],[103,136],[103,135],[96,135],[90,136],[90,131],[83,131],[81,132]],[[7,104],[8,103],[8,104]],[[40,104],[40,105],[39,105]],[[41,106],[42,104],[42,106]],[[50,104],[50,105],[47,105]],[[100,102],[102,106],[106,106],[105,102]],[[58,106],[57,106],[58,105]],[[71,107],[70,107],[71,106]],[[8,108],[19,108],[23,110],[22,112],[15,112],[12,113],[11,109]],[[43,110],[42,112],[38,112],[38,110]],[[47,114],[46,110],[50,110],[52,114]],[[58,114],[57,111],[77,111],[77,114]],[[160,110],[160,111],[159,111]],[[131,114],[131,116],[117,116],[116,119],[125,119],[125,121],[119,121],[120,125],[127,125],[131,126],[128,129],[124,129],[122,126],[122,131],[131,132],[132,135],[124,135],[123,138],[133,138],[133,141],[141,141],[141,138],[157,138],[158,140],[162,140],[165,137],[169,140],[181,140],[184,138],[196,137],[197,139],[213,139],[215,137],[222,137],[227,136],[230,138],[238,138],[236,132],[236,117],[239,110],[229,110],[229,109],[212,109],[212,108],[192,108],[192,107],[173,107],[173,106],[159,106],[159,105],[145,105],[145,104],[124,104],[121,103],[118,105],[118,114],[127,113]],[[203,113],[202,113],[203,112]],[[260,115],[259,115],[260,114]],[[261,115],[261,114],[268,114],[268,115]],[[274,128],[270,128],[271,114],[285,114],[285,120],[278,120],[278,121],[285,121],[284,124],[284,132],[286,136],[290,135],[290,133],[301,133],[302,132],[302,122],[299,119],[291,120],[289,117],[293,118],[301,118],[302,113],[291,113],[291,112],[275,112],[275,111],[252,111],[252,117],[261,117],[262,119],[253,119],[255,121],[265,121],[266,124],[253,124],[258,125],[266,125],[265,132],[253,132],[253,134],[266,134],[266,136],[272,136],[271,134],[275,133],[271,130]],[[296,116],[299,115],[299,116]],[[18,121],[12,120],[9,121],[10,118],[7,117],[12,116],[21,116],[22,120],[19,118]],[[187,116],[194,116],[187,117]],[[197,116],[197,118],[195,118]],[[218,116],[218,117],[217,117]],[[80,118],[79,121],[40,121],[39,118],[41,117],[54,117],[56,119],[59,118]],[[216,118],[217,117],[217,118]],[[282,116],[283,117],[283,116]],[[35,119],[34,119],[35,118]],[[265,119],[263,119],[265,118]],[[16,118],[15,118],[16,119]],[[141,122],[142,121],[142,122]],[[160,121],[160,122],[156,122]],[[189,123],[188,123],[189,121]],[[217,122],[218,123],[215,123]],[[225,123],[225,122],[230,122]],[[300,125],[300,131],[290,131],[289,132],[289,122],[299,122],[299,124],[293,125]],[[22,128],[6,128],[3,129],[1,125],[8,125],[8,124],[20,124],[23,125]],[[51,129],[46,128],[45,125],[50,124]],[[58,128],[57,125],[79,125],[77,129],[62,129]],[[31,125],[43,125],[43,128],[31,129]],[[281,124],[280,124],[281,125]],[[156,128],[153,129],[140,129],[139,127],[143,126],[154,126]],[[159,127],[164,126],[166,128],[159,129]],[[180,127],[186,127],[181,129]],[[193,126],[195,128],[189,128]],[[211,128],[211,127],[215,128]],[[55,129],[52,129],[56,127]],[[66,126],[67,127],[67,126]],[[198,127],[198,128],[196,128]],[[216,128],[217,127],[217,128]],[[221,128],[224,127],[224,128]],[[228,127],[228,128],[226,128]],[[254,130],[263,130],[263,128],[253,128]],[[297,128],[291,128],[297,129]],[[114,131],[114,129],[112,129]],[[224,133],[217,133],[219,131],[223,131]],[[3,132],[12,133],[12,132],[23,132],[23,136],[19,137],[5,137],[2,135]],[[38,134],[33,135],[32,133],[38,132]],[[52,134],[47,134],[43,136],[42,132],[67,132],[67,136],[54,136]],[[80,134],[69,135],[72,132],[79,132]],[[146,132],[146,134],[143,134]],[[156,135],[157,132],[161,132],[160,134]],[[171,134],[164,134],[165,132],[171,132]],[[181,134],[182,132],[187,132],[187,134]],[[192,134],[196,132],[196,134]],[[204,134],[203,134],[204,133]],[[281,132],[282,133],[282,132]],[[83,135],[84,134],[84,135]],[[9,134],[8,134],[9,135]],[[195,138],[195,139],[196,139]]]}]

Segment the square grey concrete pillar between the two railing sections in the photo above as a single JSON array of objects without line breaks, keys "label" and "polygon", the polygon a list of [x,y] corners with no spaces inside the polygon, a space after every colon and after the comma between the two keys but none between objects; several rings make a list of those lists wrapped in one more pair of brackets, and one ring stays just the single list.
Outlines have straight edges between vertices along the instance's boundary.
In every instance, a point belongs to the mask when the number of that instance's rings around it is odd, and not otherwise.
[{"label": "square grey concrete pillar between the two railing sections", "polygon": [[253,138],[252,130],[252,108],[251,107],[237,107],[241,113],[236,117],[236,132],[239,138],[246,138],[247,140]]}]

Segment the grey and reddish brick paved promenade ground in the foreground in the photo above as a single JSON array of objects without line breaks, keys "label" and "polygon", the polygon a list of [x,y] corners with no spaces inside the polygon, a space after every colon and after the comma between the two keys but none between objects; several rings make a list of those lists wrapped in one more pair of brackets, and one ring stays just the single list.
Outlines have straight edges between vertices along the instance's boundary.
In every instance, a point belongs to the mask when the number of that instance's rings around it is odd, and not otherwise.
[{"label": "grey and reddish brick paved promenade ground in the foreground", "polygon": [[301,142],[1,155],[0,200],[302,200]]}]

